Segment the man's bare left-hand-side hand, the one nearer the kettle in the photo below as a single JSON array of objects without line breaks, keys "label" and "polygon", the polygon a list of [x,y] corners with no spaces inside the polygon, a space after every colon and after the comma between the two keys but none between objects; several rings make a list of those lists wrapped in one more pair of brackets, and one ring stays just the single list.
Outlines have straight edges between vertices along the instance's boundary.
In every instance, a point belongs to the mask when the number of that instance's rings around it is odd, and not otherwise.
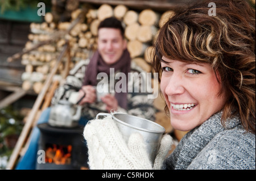
[{"label": "man's bare left-hand-side hand, the one nearer the kettle", "polygon": [[[84,98],[82,98],[82,96],[84,96]],[[79,105],[84,103],[94,103],[96,100],[96,90],[94,87],[90,85],[82,86],[81,90],[79,90],[79,99],[81,98],[82,100],[80,101]]]}]

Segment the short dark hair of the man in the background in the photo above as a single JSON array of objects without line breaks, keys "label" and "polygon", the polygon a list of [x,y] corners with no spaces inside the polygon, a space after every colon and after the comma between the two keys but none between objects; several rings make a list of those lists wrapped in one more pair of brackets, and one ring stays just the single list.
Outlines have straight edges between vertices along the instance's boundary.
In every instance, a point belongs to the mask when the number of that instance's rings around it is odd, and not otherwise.
[{"label": "short dark hair of the man in the background", "polygon": [[106,18],[106,19],[102,20],[102,22],[100,22],[100,24],[98,26],[98,30],[100,30],[100,28],[119,29],[122,37],[124,37],[124,34],[125,34],[125,30],[122,26],[122,23],[117,18],[114,18],[114,17],[110,17],[110,18]]}]

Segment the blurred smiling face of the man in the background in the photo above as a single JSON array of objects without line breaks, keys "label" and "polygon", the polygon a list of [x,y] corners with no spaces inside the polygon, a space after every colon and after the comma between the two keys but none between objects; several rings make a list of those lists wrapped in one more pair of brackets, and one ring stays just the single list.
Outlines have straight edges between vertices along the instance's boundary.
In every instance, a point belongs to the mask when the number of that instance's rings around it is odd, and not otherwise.
[{"label": "blurred smiling face of the man in the background", "polygon": [[98,30],[98,51],[106,64],[114,64],[126,49],[126,40],[116,28],[100,28]]}]

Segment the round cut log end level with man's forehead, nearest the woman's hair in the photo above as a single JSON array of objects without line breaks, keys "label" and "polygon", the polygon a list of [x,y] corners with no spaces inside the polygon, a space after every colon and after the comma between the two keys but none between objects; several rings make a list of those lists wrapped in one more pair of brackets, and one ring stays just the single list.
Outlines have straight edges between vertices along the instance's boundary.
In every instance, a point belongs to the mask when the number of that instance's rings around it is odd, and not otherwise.
[{"label": "round cut log end level with man's forehead, nearest the woman's hair", "polygon": [[138,29],[137,39],[141,42],[151,41],[156,32],[155,26],[142,25]]}]

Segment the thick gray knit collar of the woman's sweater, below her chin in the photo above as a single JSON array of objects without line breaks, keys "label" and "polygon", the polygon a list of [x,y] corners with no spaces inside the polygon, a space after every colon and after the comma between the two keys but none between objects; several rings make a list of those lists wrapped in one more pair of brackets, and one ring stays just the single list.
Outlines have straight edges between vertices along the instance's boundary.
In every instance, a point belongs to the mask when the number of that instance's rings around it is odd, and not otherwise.
[{"label": "thick gray knit collar of the woman's sweater, below her chin", "polygon": [[[221,124],[222,112],[218,112],[211,116],[207,121],[188,132],[183,139],[184,145],[180,150],[179,158],[177,158],[175,169],[187,169],[193,159],[199,152],[209,143],[212,138],[224,131],[224,129],[232,129],[240,124],[238,117],[233,117],[226,121],[225,128]],[[182,141],[182,140],[181,140]]]}]

